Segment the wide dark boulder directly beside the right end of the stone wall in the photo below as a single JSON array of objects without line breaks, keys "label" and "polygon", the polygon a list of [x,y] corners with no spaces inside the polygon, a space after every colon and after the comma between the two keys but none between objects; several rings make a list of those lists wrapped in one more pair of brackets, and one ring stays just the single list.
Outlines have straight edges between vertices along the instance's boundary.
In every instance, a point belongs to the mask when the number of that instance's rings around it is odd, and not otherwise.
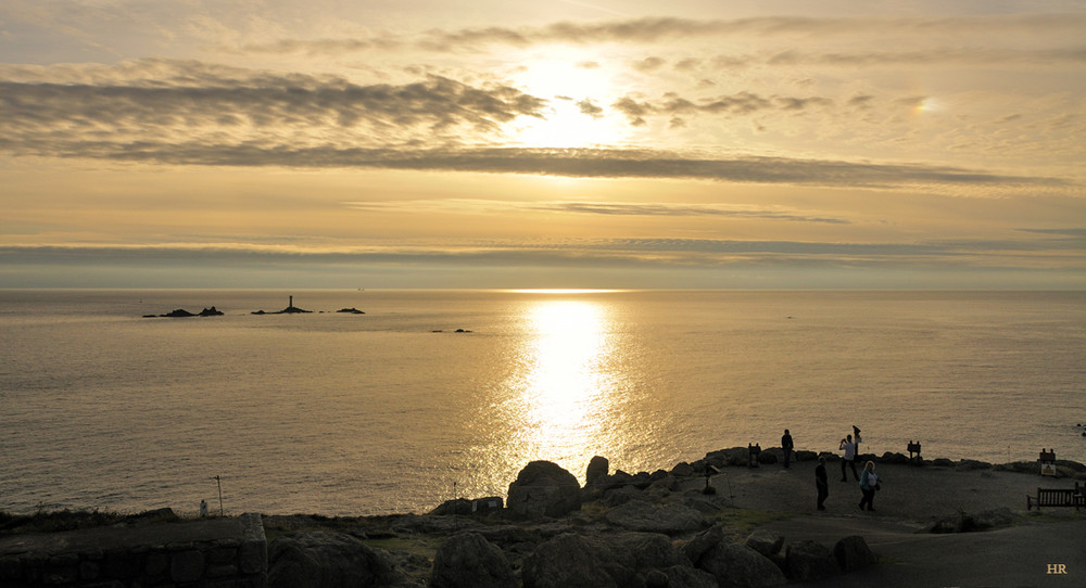
[{"label": "wide dark boulder directly beside the right end of the stone wall", "polygon": [[342,533],[303,533],[268,546],[269,588],[378,588],[408,585],[388,552]]}]

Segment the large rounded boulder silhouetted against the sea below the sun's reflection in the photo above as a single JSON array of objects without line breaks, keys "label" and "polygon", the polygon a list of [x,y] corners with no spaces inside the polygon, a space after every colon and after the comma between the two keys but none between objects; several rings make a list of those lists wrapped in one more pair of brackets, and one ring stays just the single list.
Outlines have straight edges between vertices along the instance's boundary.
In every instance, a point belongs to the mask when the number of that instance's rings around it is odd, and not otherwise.
[{"label": "large rounded boulder silhouetted against the sea below the sun's reflection", "polygon": [[509,484],[506,512],[513,519],[539,520],[581,510],[581,485],[551,461],[533,461]]}]

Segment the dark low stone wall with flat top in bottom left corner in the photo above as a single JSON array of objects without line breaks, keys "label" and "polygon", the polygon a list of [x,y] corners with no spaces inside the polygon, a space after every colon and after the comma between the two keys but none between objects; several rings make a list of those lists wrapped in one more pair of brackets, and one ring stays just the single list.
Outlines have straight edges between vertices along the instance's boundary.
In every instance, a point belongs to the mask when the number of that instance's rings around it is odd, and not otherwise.
[{"label": "dark low stone wall with flat top in bottom left corner", "polygon": [[260,514],[0,537],[0,588],[264,588]]}]

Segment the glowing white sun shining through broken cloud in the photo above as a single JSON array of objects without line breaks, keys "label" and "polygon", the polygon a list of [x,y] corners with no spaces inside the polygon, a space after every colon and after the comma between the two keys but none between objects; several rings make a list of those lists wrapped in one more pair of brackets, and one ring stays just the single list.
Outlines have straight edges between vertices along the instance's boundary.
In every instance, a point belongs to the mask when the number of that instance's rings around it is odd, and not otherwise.
[{"label": "glowing white sun shining through broken cloud", "polygon": [[515,142],[570,149],[620,139],[620,127],[608,113],[614,91],[602,66],[552,55],[523,64],[514,78],[526,92],[547,101],[542,117],[522,116],[514,123]]}]

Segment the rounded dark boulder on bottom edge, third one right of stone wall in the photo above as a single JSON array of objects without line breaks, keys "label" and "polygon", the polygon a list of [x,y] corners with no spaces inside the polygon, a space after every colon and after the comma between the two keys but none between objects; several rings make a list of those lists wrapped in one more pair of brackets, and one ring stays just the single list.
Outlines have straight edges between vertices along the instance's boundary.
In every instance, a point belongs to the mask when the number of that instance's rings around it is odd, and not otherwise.
[{"label": "rounded dark boulder on bottom edge, third one right of stone wall", "polygon": [[525,558],[520,572],[525,588],[618,588],[605,570],[609,554],[577,534],[540,544]]}]

